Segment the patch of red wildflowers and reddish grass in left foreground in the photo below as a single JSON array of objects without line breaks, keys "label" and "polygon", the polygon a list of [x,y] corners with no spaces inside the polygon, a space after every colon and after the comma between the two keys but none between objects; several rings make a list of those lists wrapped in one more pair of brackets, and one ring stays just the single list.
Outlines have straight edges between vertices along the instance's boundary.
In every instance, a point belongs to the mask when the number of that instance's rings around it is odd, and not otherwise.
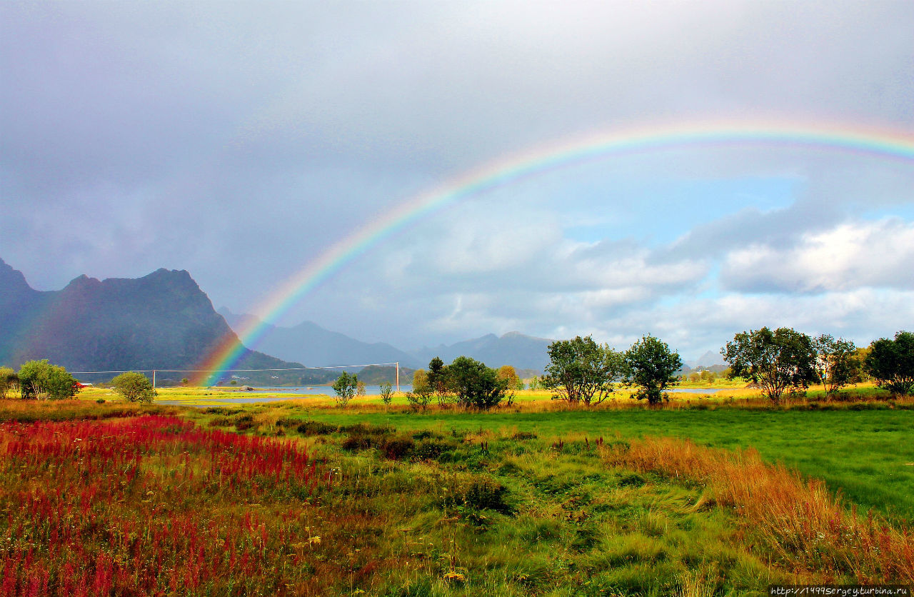
[{"label": "patch of red wildflowers and reddish grass in left foreground", "polygon": [[320,476],[292,442],[170,416],[0,423],[0,596],[292,593]]}]

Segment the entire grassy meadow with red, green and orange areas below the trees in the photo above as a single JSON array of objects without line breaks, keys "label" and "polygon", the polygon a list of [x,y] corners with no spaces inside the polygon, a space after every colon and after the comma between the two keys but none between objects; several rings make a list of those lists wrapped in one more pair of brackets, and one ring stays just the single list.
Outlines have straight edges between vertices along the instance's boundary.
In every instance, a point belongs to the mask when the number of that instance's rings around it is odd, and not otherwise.
[{"label": "entire grassy meadow with red, green and orange areas below the trees", "polygon": [[[0,402],[0,595],[762,595],[914,583],[914,403]],[[97,400],[106,400],[97,403]]]}]

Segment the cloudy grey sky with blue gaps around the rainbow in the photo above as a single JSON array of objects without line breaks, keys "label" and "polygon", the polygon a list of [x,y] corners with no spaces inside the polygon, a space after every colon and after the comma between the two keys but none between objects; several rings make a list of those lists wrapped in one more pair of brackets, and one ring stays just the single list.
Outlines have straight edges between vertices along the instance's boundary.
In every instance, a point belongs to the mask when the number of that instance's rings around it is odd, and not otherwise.
[{"label": "cloudy grey sky with blue gaps around the rainbow", "polygon": [[762,325],[866,346],[914,329],[914,162],[828,146],[547,168],[263,305],[416,197],[585,139],[910,144],[912,38],[909,0],[3,2],[0,258],[39,290],[187,270],[217,308],[405,349],[652,334],[689,359]]}]

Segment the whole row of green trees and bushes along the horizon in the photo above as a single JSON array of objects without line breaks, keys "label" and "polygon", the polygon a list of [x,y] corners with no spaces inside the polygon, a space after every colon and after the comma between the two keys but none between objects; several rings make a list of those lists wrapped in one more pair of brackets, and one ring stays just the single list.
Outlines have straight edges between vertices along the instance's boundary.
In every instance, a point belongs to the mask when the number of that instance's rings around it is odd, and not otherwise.
[{"label": "whole row of green trees and bushes along the horizon", "polygon": [[[591,406],[625,387],[635,389],[632,398],[657,405],[664,400],[665,390],[680,380],[679,354],[651,335],[625,351],[598,344],[591,336],[558,340],[547,351],[549,364],[537,385],[551,390],[553,400]],[[790,327],[762,327],[736,334],[720,354],[729,365],[728,378],[751,380],[774,403],[785,395],[801,395],[812,384],[822,384],[826,395],[833,395],[864,374],[892,394],[914,393],[914,334],[907,331],[859,348],[850,340],[828,334],[813,337]],[[406,398],[422,410],[433,400],[440,407],[453,404],[488,410],[503,401],[511,404],[514,390],[523,387],[511,366],[495,370],[472,357],[457,357],[445,365],[434,357],[428,369],[414,372],[413,387]],[[141,373],[122,373],[112,379],[112,389],[126,400],[154,398],[152,384]],[[27,400],[60,400],[74,397],[80,384],[65,368],[51,365],[47,359],[33,360],[18,372],[0,367],[0,398],[16,390]],[[365,394],[357,376],[345,372],[336,379],[334,390],[341,406]],[[392,395],[390,384],[382,384],[385,404]]]}]

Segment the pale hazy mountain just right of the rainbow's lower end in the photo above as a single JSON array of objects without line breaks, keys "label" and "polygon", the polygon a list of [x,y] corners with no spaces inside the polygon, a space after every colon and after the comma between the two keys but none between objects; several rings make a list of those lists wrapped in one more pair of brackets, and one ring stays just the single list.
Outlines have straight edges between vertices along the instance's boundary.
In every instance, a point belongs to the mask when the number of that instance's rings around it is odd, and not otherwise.
[{"label": "pale hazy mountain just right of the rainbow's lower end", "polygon": [[[259,324],[257,317],[250,314],[234,314],[226,307],[220,307],[219,314],[236,332],[247,325]],[[331,332],[320,325],[306,321],[294,327],[266,324],[267,332],[262,336],[258,348],[280,358],[288,358],[308,367],[334,365],[371,365],[375,363],[398,362],[400,367],[424,367],[406,352],[385,344],[369,344],[338,332]]]}]

